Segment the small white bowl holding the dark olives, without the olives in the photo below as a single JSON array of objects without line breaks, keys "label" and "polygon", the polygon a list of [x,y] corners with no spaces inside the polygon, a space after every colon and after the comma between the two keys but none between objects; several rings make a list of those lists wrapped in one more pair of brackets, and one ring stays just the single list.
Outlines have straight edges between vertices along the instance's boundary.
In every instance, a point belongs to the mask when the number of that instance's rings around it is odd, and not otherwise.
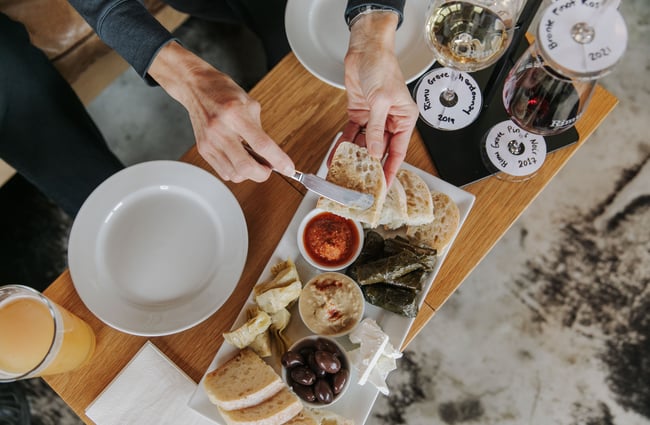
[{"label": "small white bowl holding the dark olives, without the olives", "polygon": [[[317,335],[311,335],[311,336],[307,336],[307,337],[301,338],[298,341],[296,341],[289,348],[289,351],[300,354],[300,350],[304,349],[306,347],[314,347],[314,349],[316,351],[317,341],[318,340],[324,341],[325,344],[326,344],[326,345],[323,345],[322,342],[321,342],[320,345],[319,345],[319,348],[329,346],[329,347],[332,347],[332,349],[328,348],[326,351],[332,352],[332,350],[334,350],[334,351],[337,352],[336,356],[340,361],[341,369],[347,370],[347,372],[341,372],[341,374],[347,373],[347,378],[345,379],[345,383],[342,385],[341,390],[336,394],[333,393],[333,381],[335,379],[334,374],[328,373],[325,377],[321,378],[321,379],[324,379],[326,381],[327,385],[329,385],[330,389],[332,389],[332,401],[329,402],[329,403],[324,403],[322,401],[319,401],[318,399],[316,399],[314,401],[309,401],[306,398],[304,398],[304,396],[302,395],[303,391],[309,391],[309,390],[307,390],[305,388],[301,388],[298,385],[294,384],[295,381],[290,377],[290,373],[291,373],[290,371],[291,371],[291,369],[293,369],[293,367],[286,367],[285,364],[282,365],[282,379],[284,379],[284,382],[289,387],[291,387],[293,389],[294,393],[296,393],[296,395],[298,395],[298,397],[300,397],[300,399],[302,400],[302,402],[306,406],[316,407],[316,408],[320,408],[320,407],[328,408],[332,404],[334,404],[335,402],[337,402],[338,400],[340,400],[343,397],[343,395],[345,394],[347,389],[350,387],[350,382],[352,381],[352,379],[351,379],[352,370],[350,368],[350,366],[351,366],[350,365],[350,360],[348,358],[348,354],[345,351],[345,349],[338,342],[336,342],[332,338],[327,338],[327,337],[317,336]],[[312,372],[314,372],[315,366],[313,366],[313,365],[310,366],[309,359],[305,358],[302,355],[301,355],[301,359],[302,359],[302,362],[303,362],[303,366],[309,368]],[[315,375],[316,375],[316,373],[315,373]],[[341,378],[341,376],[339,376],[337,379],[340,379],[340,378]],[[309,387],[311,388],[311,391],[315,391],[313,385],[311,385]]]}]

